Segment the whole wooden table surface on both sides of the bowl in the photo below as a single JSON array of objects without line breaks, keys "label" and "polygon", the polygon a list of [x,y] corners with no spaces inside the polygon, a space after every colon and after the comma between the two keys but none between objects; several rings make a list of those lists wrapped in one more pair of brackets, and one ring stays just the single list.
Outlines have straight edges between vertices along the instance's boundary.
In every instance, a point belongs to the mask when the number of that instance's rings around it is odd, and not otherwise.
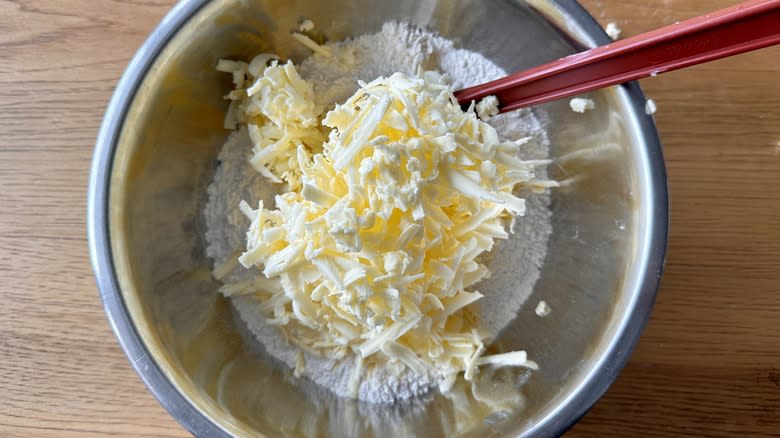
[{"label": "whole wooden table surface on both sides of the bowl", "polygon": [[[0,0],[0,436],[185,436],[87,256],[105,106],[171,0]],[[733,0],[587,0],[623,36]],[[646,80],[671,191],[650,323],[570,436],[780,436],[780,47]]]}]

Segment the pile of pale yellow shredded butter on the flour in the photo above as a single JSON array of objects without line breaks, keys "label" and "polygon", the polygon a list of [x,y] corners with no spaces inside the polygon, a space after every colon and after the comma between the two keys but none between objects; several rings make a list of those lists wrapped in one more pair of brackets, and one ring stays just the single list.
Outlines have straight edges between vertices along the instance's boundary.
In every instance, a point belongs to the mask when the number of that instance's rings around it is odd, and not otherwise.
[{"label": "pile of pale yellow shredded butter on the flour", "polygon": [[226,126],[247,124],[252,165],[288,189],[275,208],[242,202],[239,262],[264,278],[221,292],[260,298],[301,349],[356,361],[355,396],[362,370],[388,362],[438,376],[442,391],[485,364],[535,368],[522,351],[483,355],[494,334],[470,310],[489,275],[480,255],[524,212],[513,190],[549,185],[533,179],[544,163],[517,158],[527,139],[501,141],[433,71],[360,83],[323,116],[292,63],[265,67],[273,58],[218,66],[236,85]]}]

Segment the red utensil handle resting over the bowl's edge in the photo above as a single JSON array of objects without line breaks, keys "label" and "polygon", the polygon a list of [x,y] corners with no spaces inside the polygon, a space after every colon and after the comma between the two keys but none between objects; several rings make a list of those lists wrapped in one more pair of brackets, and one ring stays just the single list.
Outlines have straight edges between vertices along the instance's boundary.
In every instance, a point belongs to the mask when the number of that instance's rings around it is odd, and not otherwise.
[{"label": "red utensil handle resting over the bowl's edge", "polygon": [[780,0],[754,0],[457,91],[495,95],[501,112],[780,43]]}]

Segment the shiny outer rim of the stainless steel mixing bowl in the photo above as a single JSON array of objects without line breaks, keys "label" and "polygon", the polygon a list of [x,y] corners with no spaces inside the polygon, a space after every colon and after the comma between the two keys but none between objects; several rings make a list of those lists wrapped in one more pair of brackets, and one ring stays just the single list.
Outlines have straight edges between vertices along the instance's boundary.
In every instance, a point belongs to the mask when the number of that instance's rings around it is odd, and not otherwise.
[{"label": "shiny outer rim of the stainless steel mixing bowl", "polygon": [[[106,109],[93,154],[87,199],[87,235],[89,254],[106,317],[136,373],[157,401],[195,436],[229,437],[168,380],[144,345],[120,292],[109,236],[109,183],[117,141],[124,119],[146,73],[178,30],[209,0],[182,0],[176,4],[151,33],[125,69]],[[528,3],[533,3],[528,1]],[[550,0],[573,20],[594,45],[611,42],[596,20],[576,0]],[[631,102],[631,110],[642,113],[646,102],[637,82],[620,86]],[[666,168],[655,122],[650,116],[636,117],[638,129],[647,146],[646,163],[649,217],[646,263],[639,274],[636,298],[630,305],[630,318],[619,327],[604,350],[599,363],[565,403],[547,414],[523,436],[559,436],[584,416],[607,391],[625,366],[649,319],[660,283],[667,248],[669,208]]]}]

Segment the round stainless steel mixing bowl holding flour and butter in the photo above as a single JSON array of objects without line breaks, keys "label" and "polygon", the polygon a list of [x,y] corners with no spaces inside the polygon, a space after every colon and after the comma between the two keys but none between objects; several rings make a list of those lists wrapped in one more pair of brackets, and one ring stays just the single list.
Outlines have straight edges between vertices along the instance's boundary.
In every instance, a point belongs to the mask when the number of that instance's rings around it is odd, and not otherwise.
[{"label": "round stainless steel mixing bowl holding flour and butter", "polygon": [[[92,263],[109,321],[141,378],[198,436],[554,436],[600,397],[636,343],[653,304],[667,234],[661,148],[637,84],[592,93],[597,107],[536,109],[551,154],[604,144],[610,154],[553,166],[578,175],[551,192],[553,236],[541,278],[499,336],[541,365],[512,415],[464,426],[441,396],[394,409],[339,400],[292,382],[242,341],[204,255],[202,208],[229,88],[218,58],[273,51],[311,18],[329,39],[390,19],[438,30],[516,71],[608,42],[573,1],[194,0],[164,19],[135,56],[108,107],[89,187]],[[586,154],[587,155],[587,154]],[[544,299],[550,316],[534,314]],[[483,421],[484,420],[484,421]]]}]

